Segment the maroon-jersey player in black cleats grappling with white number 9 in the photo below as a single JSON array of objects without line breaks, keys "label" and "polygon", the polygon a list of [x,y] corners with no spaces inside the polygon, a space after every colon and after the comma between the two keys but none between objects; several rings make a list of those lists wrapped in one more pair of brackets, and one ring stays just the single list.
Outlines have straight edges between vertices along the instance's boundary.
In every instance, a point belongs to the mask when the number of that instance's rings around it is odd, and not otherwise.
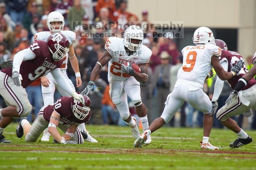
[{"label": "maroon-jersey player in black cleats grappling with white number 9", "polygon": [[[215,43],[222,49],[220,63],[226,71],[230,71],[230,68],[237,63],[238,60],[242,60],[242,56],[237,52],[227,50],[227,45],[221,39],[215,39]],[[227,83],[232,89],[235,89],[238,81],[244,82],[246,86],[241,88],[241,91],[237,92],[233,90],[231,94],[235,94],[234,97],[228,98],[225,106],[217,112],[217,118],[222,122],[224,126],[229,128],[231,131],[235,132],[238,138],[229,144],[231,148],[238,148],[249,144],[252,142],[252,137],[241,129],[236,121],[231,119],[231,116],[239,115],[244,113],[246,117],[251,116],[251,108],[256,109],[256,80],[245,79],[244,76],[247,74],[248,70],[244,67],[238,72],[233,78],[227,80]],[[224,81],[217,77],[214,94],[212,96],[212,101],[217,101],[219,95],[221,94]],[[217,109],[217,108],[216,108]],[[216,112],[216,111],[215,111]],[[213,113],[214,114],[214,113]]]}]

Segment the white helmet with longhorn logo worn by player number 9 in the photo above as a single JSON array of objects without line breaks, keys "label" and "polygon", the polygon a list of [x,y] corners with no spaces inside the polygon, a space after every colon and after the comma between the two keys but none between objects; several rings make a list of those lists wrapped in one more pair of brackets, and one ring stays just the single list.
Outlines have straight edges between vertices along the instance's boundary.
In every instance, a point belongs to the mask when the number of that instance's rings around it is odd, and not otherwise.
[{"label": "white helmet with longhorn logo worn by player number 9", "polygon": [[212,31],[207,27],[199,27],[195,30],[193,36],[194,44],[214,44],[214,36]]}]

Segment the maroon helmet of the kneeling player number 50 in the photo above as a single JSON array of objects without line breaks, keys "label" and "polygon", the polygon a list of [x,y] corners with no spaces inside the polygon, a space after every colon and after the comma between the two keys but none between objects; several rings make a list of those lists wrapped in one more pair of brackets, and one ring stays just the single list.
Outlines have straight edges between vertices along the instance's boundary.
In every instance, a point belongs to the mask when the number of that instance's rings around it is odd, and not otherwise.
[{"label": "maroon helmet of the kneeling player number 50", "polygon": [[82,103],[73,99],[71,107],[74,116],[80,120],[84,120],[84,118],[86,118],[86,116],[91,112],[90,105],[91,100],[87,95],[83,95]]}]

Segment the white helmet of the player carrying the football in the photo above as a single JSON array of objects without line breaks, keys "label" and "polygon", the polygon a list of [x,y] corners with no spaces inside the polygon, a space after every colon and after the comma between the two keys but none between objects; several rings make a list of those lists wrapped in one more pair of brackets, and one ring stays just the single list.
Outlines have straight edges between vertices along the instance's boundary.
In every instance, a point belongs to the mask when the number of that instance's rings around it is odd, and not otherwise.
[{"label": "white helmet of the player carrying the football", "polygon": [[[132,43],[131,39],[139,39],[139,44]],[[138,50],[142,46],[143,39],[143,31],[139,26],[131,25],[124,31],[124,46],[129,50]]]}]

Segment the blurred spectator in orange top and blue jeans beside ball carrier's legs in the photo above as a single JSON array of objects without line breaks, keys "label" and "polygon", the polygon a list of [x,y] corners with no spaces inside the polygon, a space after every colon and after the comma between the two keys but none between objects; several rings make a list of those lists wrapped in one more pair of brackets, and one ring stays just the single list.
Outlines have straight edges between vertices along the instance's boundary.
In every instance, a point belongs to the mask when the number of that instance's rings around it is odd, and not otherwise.
[{"label": "blurred spectator in orange top and blue jeans beside ball carrier's legs", "polygon": [[105,125],[114,124],[117,125],[119,113],[116,108],[116,105],[112,102],[110,95],[109,95],[109,84],[104,90],[103,97],[102,97],[102,120]]}]

